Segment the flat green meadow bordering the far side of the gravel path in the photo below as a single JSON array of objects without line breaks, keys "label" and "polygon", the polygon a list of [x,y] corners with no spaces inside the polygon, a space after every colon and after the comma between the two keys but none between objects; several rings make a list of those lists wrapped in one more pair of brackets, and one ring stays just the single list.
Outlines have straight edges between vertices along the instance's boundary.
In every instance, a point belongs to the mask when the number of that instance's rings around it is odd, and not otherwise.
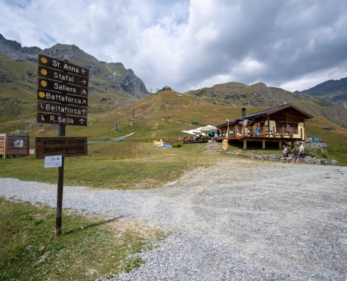
[{"label": "flat green meadow bordering the far side of the gravel path", "polygon": [[[152,143],[127,141],[88,145],[88,156],[65,158],[64,185],[116,189],[156,188],[177,180],[184,171],[197,166],[210,166],[227,157],[222,154],[211,157],[204,152],[205,146],[206,143],[200,143],[162,149]],[[0,159],[0,176],[57,183],[57,168],[44,169],[43,164],[44,159],[34,159],[33,155]]]}]

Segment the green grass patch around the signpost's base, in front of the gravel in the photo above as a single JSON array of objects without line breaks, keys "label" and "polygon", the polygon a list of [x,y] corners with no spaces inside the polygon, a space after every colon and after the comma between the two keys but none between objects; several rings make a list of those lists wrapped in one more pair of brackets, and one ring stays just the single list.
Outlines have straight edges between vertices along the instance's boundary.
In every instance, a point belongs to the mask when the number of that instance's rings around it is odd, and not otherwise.
[{"label": "green grass patch around the signpost's base, in front of the gravel", "polygon": [[54,237],[55,211],[0,197],[0,280],[95,280],[143,263],[130,254],[151,249],[163,233],[143,223],[63,214]]}]

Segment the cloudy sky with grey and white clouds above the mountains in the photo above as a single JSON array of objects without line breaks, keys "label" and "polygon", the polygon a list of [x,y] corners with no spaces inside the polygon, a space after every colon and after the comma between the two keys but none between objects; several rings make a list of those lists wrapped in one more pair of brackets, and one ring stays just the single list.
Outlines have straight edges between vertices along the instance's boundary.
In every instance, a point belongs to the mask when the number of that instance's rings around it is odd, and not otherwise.
[{"label": "cloudy sky with grey and white clouds above the mountains", "polygon": [[302,91],[347,77],[346,0],[0,0],[0,33],[22,46],[74,44],[147,89]]}]

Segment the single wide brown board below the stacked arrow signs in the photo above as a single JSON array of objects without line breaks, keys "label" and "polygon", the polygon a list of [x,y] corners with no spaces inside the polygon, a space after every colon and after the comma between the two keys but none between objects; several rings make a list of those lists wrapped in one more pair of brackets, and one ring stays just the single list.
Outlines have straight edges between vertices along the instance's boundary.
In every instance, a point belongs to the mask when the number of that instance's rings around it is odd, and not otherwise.
[{"label": "single wide brown board below the stacked arrow signs", "polygon": [[88,155],[86,136],[48,136],[35,137],[36,159],[47,156],[62,155],[63,157]]}]

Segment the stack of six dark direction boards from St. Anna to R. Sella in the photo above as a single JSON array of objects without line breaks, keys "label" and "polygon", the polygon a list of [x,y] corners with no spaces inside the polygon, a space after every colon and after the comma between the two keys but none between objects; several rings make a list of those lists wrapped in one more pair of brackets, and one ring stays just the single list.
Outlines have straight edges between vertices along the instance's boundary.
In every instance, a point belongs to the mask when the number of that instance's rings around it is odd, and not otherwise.
[{"label": "stack of six dark direction boards from St. Anna to R. Sella", "polygon": [[39,55],[36,122],[87,126],[88,68]]}]

